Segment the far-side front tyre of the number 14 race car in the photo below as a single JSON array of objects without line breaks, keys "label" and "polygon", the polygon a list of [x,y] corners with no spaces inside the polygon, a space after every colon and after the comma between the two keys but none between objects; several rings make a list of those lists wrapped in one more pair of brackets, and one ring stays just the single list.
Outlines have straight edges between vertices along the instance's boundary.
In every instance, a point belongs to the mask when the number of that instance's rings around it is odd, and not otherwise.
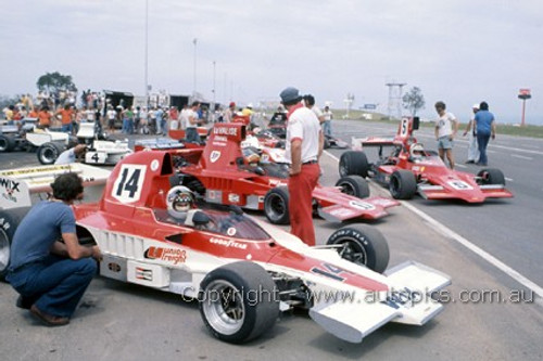
[{"label": "far-side front tyre of the number 14 race car", "polygon": [[382,273],[389,266],[387,240],[381,232],[367,224],[340,228],[330,235],[326,244],[342,245],[337,248],[341,258],[365,266],[375,272]]}]

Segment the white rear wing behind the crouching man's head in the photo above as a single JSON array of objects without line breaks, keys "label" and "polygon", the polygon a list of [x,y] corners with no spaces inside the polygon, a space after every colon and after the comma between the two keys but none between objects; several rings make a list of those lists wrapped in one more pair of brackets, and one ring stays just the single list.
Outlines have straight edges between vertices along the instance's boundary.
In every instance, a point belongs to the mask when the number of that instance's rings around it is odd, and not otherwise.
[{"label": "white rear wing behind the crouching man's head", "polygon": [[98,201],[111,171],[78,163],[26,167],[0,171],[0,209],[29,207],[47,198],[54,178],[77,173],[85,186],[86,201]]}]

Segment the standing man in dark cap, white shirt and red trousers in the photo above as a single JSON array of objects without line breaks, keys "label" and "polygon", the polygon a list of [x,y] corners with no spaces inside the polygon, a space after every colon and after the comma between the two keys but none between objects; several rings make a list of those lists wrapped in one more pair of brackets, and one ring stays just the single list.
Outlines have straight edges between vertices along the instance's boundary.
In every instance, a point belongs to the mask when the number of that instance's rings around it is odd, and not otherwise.
[{"label": "standing man in dark cap, white shirt and red trousers", "polygon": [[285,157],[290,164],[290,232],[314,246],[312,194],[320,173],[318,158],[323,153],[323,132],[317,116],[303,105],[296,88],[286,88],[280,98],[288,111]]}]

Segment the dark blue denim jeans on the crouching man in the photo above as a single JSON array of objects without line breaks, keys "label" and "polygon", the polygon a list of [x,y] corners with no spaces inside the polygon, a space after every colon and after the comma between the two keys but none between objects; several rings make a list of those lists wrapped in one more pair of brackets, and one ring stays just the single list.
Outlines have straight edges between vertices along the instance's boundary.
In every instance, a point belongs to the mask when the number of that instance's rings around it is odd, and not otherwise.
[{"label": "dark blue denim jeans on the crouching man", "polygon": [[39,310],[70,318],[96,272],[92,258],[73,260],[50,255],[8,273],[7,280]]}]

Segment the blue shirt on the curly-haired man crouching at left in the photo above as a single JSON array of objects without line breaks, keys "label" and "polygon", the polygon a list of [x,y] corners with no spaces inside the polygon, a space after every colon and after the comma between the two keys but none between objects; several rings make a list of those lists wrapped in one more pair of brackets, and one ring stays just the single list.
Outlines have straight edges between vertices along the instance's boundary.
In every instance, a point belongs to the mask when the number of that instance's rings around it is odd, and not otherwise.
[{"label": "blue shirt on the curly-haired man crouching at left", "polygon": [[62,233],[76,233],[72,208],[62,202],[36,204],[15,231],[10,269],[46,258]]}]

